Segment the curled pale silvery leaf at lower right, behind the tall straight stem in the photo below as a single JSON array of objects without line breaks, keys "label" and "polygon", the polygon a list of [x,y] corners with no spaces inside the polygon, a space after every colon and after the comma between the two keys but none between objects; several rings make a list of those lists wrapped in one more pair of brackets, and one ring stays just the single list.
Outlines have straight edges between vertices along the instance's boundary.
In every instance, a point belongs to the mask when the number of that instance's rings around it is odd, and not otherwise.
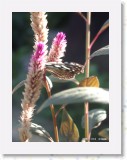
[{"label": "curled pale silvery leaf at lower right, behind the tall straight stem", "polygon": [[[106,111],[104,109],[93,109],[89,111],[89,130],[97,128],[101,125],[101,122],[107,118]],[[82,128],[84,125],[84,116],[82,117]]]}]

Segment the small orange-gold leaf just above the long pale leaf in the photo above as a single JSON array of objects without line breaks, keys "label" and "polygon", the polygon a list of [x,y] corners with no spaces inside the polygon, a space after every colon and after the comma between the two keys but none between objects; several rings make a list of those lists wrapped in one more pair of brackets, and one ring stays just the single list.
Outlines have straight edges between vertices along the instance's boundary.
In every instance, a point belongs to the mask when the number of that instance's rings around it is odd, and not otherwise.
[{"label": "small orange-gold leaf just above the long pale leaf", "polygon": [[82,80],[79,87],[99,87],[99,80],[96,76],[91,76]]}]

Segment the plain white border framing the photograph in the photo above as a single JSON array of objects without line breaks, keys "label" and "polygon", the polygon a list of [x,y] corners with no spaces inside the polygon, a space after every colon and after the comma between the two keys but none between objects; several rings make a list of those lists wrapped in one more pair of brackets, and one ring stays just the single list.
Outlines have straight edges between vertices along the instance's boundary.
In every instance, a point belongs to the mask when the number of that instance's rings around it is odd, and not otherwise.
[{"label": "plain white border framing the photograph", "polygon": [[[41,4],[41,5],[40,5]],[[121,154],[121,5],[118,0],[36,0],[2,2],[1,113],[2,154]],[[110,14],[110,142],[12,142],[12,12],[109,12]]]}]

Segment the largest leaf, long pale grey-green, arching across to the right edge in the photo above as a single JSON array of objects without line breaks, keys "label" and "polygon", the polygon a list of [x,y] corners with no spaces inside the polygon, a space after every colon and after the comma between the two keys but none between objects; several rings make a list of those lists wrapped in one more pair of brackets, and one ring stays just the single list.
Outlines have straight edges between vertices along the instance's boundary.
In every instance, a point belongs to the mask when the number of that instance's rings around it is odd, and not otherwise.
[{"label": "largest leaf, long pale grey-green, arching across to the right edge", "polygon": [[97,87],[76,87],[67,89],[48,98],[38,109],[37,113],[50,104],[72,104],[81,102],[108,104],[109,92]]}]

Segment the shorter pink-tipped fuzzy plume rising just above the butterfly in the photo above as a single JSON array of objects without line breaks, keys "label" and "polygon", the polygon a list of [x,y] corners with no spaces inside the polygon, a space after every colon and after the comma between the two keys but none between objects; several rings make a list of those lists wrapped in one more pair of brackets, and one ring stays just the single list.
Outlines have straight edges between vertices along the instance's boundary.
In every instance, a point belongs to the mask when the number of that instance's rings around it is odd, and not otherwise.
[{"label": "shorter pink-tipped fuzzy plume rising just above the butterfly", "polygon": [[62,57],[67,46],[66,35],[63,32],[59,32],[53,40],[49,55],[48,62],[61,62]]}]

